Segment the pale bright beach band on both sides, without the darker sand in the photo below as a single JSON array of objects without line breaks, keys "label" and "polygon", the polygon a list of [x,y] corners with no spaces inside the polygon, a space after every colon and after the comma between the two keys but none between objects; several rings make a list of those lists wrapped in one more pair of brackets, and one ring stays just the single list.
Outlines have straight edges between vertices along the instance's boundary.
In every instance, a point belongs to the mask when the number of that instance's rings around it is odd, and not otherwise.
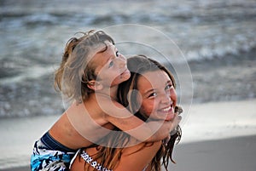
[{"label": "pale bright beach band on both sides, without the darker sand", "polygon": [[[191,105],[188,107],[188,114],[182,114],[183,136],[180,145],[241,136],[253,137],[256,134],[255,104],[256,99]],[[58,117],[60,116],[0,120],[0,170],[27,166],[34,141],[38,140]]]}]

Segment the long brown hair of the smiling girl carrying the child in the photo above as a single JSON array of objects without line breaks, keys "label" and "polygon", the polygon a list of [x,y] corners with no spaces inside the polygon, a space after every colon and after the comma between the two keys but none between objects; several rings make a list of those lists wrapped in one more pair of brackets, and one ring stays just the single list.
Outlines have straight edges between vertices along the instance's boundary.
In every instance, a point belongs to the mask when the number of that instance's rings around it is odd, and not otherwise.
[{"label": "long brown hair of the smiling girl carrying the child", "polygon": [[[141,113],[139,113],[137,109],[137,94],[129,93],[133,89],[137,89],[137,81],[138,78],[143,75],[143,73],[148,71],[165,71],[167,75],[172,80],[172,84],[174,88],[176,88],[175,79],[172,76],[172,73],[165,67],[160,65],[159,62],[155,60],[151,60],[144,55],[136,55],[127,60],[128,69],[131,71],[131,77],[119,84],[118,89],[118,100],[119,103],[127,106],[128,110],[132,113],[135,113],[137,117],[141,118],[143,121],[146,121],[147,118],[143,117]],[[136,92],[136,91],[135,91]],[[128,95],[127,95],[128,94]],[[102,166],[106,168],[111,168],[114,170],[116,166],[119,164],[119,160],[122,155],[123,148],[128,144],[131,136],[126,134],[123,131],[120,131],[119,128],[115,128],[115,131],[112,131],[105,138],[99,141],[99,144],[104,144],[105,146],[97,146],[98,152],[92,157],[95,160],[100,160]],[[172,160],[172,151],[175,143],[181,138],[181,128],[178,126],[175,134],[172,134],[171,140],[169,140],[166,144],[162,144],[160,146],[160,150],[157,151],[153,160],[149,163],[150,170],[160,171],[161,165],[163,164],[167,170],[169,160]],[[103,142],[103,143],[102,143]],[[144,146],[150,146],[153,143],[144,143]],[[111,147],[113,146],[113,147]],[[114,148],[114,146],[119,146],[118,148]],[[142,147],[143,148],[143,147]],[[85,148],[86,149],[86,148]],[[101,160],[102,159],[102,160]],[[175,163],[175,162],[174,162]]]}]

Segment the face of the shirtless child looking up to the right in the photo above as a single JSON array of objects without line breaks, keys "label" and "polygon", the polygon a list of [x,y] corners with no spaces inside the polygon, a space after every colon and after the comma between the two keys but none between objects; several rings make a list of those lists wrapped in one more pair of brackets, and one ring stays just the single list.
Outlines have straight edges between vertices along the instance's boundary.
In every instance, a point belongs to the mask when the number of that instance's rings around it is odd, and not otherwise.
[{"label": "face of the shirtless child looking up to the right", "polygon": [[108,42],[107,46],[108,49],[95,54],[93,60],[96,65],[96,75],[102,85],[112,87],[125,82],[131,77],[131,73],[127,68],[125,56],[120,54],[112,43]]}]

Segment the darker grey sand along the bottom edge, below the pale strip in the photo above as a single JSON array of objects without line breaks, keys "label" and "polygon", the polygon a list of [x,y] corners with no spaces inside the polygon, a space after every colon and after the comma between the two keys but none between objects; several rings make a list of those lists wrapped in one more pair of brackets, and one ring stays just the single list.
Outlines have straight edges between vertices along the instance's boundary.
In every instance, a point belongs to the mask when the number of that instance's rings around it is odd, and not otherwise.
[{"label": "darker grey sand along the bottom edge, below the pale strip", "polygon": [[[176,164],[172,171],[254,171],[256,162],[256,134],[223,140],[205,140],[177,145],[173,151]],[[28,171],[29,166],[3,168],[2,171]],[[164,170],[164,168],[163,168]]]}]

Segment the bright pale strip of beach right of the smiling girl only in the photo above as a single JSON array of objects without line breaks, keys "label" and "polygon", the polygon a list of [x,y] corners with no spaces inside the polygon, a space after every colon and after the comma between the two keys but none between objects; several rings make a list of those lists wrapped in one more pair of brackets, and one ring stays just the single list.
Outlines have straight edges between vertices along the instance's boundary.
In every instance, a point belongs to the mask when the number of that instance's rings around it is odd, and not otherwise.
[{"label": "bright pale strip of beach right of the smiling girl only", "polygon": [[[182,143],[256,134],[256,99],[183,106]],[[187,108],[185,108],[187,107]],[[195,134],[196,133],[196,134]]]}]

